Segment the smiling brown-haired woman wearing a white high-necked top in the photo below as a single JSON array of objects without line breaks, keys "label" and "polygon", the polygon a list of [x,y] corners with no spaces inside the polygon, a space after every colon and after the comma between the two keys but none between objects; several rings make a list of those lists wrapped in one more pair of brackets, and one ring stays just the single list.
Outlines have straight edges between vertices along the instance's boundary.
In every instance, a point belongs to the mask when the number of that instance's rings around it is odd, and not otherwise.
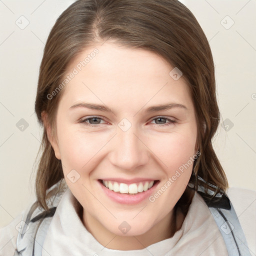
[{"label": "smiling brown-haired woman wearing a white high-necked top", "polygon": [[210,47],[182,3],[74,2],[48,36],[35,112],[37,201],[1,230],[3,255],[250,255],[211,144]]}]

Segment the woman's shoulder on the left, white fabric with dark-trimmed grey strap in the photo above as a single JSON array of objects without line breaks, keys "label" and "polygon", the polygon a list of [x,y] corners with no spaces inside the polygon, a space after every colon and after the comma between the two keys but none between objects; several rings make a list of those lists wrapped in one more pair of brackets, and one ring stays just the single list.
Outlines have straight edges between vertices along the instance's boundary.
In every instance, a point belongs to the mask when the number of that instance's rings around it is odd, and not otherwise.
[{"label": "woman's shoulder on the left, white fabric with dark-trimmed grey strap", "polygon": [[[0,256],[12,256],[21,251],[22,254],[23,251],[30,251],[39,225],[42,226],[43,232],[47,231],[47,226],[65,190],[65,181],[60,180],[47,191],[49,195],[47,205],[50,208],[48,211],[40,208],[37,202],[34,202],[8,225],[0,228]],[[41,234],[39,235],[41,236]],[[29,253],[24,255],[29,255]]]}]

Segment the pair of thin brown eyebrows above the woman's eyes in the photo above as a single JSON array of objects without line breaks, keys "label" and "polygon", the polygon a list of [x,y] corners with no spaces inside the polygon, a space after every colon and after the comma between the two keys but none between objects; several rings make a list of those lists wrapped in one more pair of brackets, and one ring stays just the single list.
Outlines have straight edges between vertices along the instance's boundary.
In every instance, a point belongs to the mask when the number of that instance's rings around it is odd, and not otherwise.
[{"label": "pair of thin brown eyebrows above the woman's eyes", "polygon": [[[76,104],[70,106],[69,109],[74,109],[74,108],[77,108],[77,107],[85,107],[85,108],[89,108],[89,109],[95,109],[95,110],[101,110],[101,111],[105,111],[105,112],[114,113],[114,111],[106,105],[86,103],[86,102],[76,103]],[[151,112],[156,112],[156,111],[160,111],[160,110],[171,109],[171,108],[174,108],[174,107],[179,107],[179,108],[183,108],[185,110],[188,110],[185,105],[182,105],[182,104],[179,104],[179,103],[167,103],[167,104],[158,104],[158,105],[150,106],[150,107],[145,109],[145,112],[151,113]]]}]

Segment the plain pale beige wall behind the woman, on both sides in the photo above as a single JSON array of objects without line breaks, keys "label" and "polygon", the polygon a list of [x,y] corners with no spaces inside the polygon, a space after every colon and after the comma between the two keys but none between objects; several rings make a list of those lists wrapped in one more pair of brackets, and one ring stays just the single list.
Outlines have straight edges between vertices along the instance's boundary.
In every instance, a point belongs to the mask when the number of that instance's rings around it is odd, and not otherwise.
[{"label": "plain pale beige wall behind the woman, on both sides", "polygon": [[[0,226],[35,199],[33,164],[42,133],[33,109],[38,69],[51,26],[72,2],[0,1]],[[228,127],[219,126],[214,148],[230,186],[255,189],[256,1],[182,2],[201,24],[215,62],[220,124]],[[21,28],[29,23],[21,29],[15,22]],[[23,131],[16,126],[21,118],[28,124]]]}]

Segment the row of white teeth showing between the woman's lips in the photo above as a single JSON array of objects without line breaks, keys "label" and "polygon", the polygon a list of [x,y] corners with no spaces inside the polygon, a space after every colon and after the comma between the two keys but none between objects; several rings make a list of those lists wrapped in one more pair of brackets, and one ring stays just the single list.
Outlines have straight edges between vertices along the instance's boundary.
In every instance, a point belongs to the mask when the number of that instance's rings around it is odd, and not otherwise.
[{"label": "row of white teeth showing between the woman's lips", "polygon": [[135,195],[138,193],[145,192],[159,182],[159,180],[149,180],[149,181],[141,181],[141,182],[136,182],[131,184],[125,184],[125,183],[120,183],[120,182],[111,181],[111,180],[103,180],[103,179],[99,179],[99,181],[109,190],[112,190],[116,193],[130,194],[130,195]]}]

